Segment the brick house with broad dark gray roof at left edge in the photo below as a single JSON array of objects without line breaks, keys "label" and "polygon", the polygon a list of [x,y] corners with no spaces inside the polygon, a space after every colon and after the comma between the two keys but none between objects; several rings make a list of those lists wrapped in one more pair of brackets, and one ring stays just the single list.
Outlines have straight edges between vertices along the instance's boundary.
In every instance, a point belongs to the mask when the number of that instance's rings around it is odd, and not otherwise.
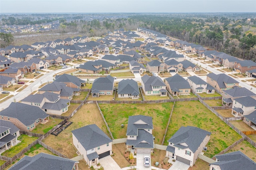
[{"label": "brick house with broad dark gray roof at left edge", "polygon": [[0,111],[0,116],[4,121],[12,122],[20,130],[29,132],[40,123],[49,121],[49,115],[39,107],[26,105],[24,103],[12,102],[9,107]]}]

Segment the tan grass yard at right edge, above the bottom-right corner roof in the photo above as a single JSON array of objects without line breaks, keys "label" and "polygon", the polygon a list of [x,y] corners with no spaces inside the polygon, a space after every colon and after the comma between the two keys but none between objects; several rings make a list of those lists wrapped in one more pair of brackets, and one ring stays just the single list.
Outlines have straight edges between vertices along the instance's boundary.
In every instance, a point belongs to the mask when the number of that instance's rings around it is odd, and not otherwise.
[{"label": "tan grass yard at right edge, above the bottom-right corner roof", "polygon": [[234,146],[234,148],[230,149],[229,152],[234,152],[240,150],[243,152],[246,156],[251,158],[254,162],[256,162],[256,148],[252,146],[247,140],[244,140],[240,142],[238,145]]}]

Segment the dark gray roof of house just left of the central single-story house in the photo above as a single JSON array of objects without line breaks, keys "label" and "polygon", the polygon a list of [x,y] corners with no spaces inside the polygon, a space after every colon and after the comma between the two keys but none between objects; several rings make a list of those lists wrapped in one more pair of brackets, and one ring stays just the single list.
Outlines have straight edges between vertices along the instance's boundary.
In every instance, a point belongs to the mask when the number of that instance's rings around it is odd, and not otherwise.
[{"label": "dark gray roof of house just left of the central single-story house", "polygon": [[100,77],[95,79],[92,83],[92,91],[93,90],[113,90],[114,88],[114,78],[110,75],[107,77]]}]

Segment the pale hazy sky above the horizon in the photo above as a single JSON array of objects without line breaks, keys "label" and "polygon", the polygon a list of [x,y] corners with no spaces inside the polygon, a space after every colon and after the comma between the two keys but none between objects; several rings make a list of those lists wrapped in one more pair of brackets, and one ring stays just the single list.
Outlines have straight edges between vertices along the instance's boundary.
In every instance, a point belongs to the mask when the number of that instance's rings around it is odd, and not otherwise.
[{"label": "pale hazy sky above the horizon", "polygon": [[256,12],[256,0],[0,0],[0,12]]}]

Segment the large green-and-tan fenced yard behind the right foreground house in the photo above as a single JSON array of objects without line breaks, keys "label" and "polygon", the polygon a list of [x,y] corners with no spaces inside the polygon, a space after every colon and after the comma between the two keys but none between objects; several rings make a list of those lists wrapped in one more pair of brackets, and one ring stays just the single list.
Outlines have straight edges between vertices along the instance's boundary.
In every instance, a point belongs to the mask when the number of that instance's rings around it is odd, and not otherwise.
[{"label": "large green-and-tan fenced yard behind the right foreground house", "polygon": [[221,121],[199,101],[176,102],[165,143],[180,128],[194,126],[211,132],[205,156],[212,157],[241,138],[232,128]]}]

